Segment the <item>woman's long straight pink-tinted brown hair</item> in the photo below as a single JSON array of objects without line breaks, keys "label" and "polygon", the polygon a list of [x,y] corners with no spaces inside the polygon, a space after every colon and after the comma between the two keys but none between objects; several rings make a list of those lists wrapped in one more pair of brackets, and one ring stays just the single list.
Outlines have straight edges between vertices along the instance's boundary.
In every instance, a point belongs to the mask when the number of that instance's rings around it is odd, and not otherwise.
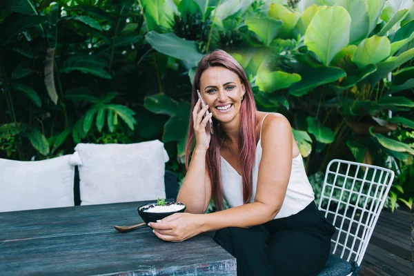
[{"label": "woman's long straight pink-tinted brown hair", "polygon": [[[193,81],[190,124],[188,127],[188,138],[186,143],[186,168],[188,170],[188,160],[195,147],[195,133],[193,129],[193,115],[195,104],[198,100],[197,89],[200,90],[200,77],[208,68],[221,66],[235,72],[246,89],[244,99],[239,110],[240,132],[239,132],[239,161],[242,165],[243,182],[243,201],[244,204],[250,202],[253,189],[252,167],[255,161],[256,152],[256,105],[253,91],[248,82],[246,72],[242,66],[227,52],[215,50],[209,55],[205,55],[195,70]],[[220,177],[220,146],[224,141],[225,134],[220,128],[219,122],[213,118],[213,128],[215,133],[211,135],[210,146],[206,154],[206,169],[212,184],[212,193],[217,210],[223,209],[223,193],[221,192]]]}]

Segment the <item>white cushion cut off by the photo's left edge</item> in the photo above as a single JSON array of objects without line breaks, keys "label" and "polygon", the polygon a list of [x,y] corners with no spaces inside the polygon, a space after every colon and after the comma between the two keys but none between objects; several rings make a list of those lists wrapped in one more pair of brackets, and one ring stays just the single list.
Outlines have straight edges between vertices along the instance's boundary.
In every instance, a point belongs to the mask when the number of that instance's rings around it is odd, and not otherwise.
[{"label": "white cushion cut off by the photo's left edge", "polygon": [[41,161],[0,159],[0,212],[75,206],[71,155]]}]

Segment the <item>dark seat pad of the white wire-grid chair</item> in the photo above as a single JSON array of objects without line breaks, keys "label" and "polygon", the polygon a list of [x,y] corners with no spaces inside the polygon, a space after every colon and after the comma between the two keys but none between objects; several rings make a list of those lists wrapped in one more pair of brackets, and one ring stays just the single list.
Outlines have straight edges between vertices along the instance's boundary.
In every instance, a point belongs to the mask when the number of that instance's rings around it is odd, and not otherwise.
[{"label": "dark seat pad of the white wire-grid chair", "polygon": [[339,258],[337,255],[330,254],[324,270],[322,270],[318,276],[358,275],[358,271],[359,266],[357,263],[349,263],[344,259]]}]

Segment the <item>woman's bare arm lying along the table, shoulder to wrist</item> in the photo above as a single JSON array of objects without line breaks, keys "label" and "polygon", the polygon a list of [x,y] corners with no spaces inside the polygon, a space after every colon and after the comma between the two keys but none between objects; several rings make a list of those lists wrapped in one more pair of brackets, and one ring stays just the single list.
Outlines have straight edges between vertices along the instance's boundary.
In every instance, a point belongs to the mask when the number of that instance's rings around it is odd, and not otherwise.
[{"label": "woman's bare arm lying along the table, shoulder to wrist", "polygon": [[262,160],[255,201],[199,217],[203,232],[226,227],[246,228],[275,218],[284,201],[292,168],[293,133],[282,115],[269,115],[262,130]]}]

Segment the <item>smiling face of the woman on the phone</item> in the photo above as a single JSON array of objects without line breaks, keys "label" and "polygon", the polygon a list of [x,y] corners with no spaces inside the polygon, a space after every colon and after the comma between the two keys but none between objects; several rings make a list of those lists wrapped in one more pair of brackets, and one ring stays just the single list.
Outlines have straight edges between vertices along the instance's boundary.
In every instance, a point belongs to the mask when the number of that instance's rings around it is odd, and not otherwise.
[{"label": "smiling face of the woman on the phone", "polygon": [[239,115],[246,92],[239,76],[224,67],[211,67],[201,74],[200,94],[215,119],[226,123]]}]

